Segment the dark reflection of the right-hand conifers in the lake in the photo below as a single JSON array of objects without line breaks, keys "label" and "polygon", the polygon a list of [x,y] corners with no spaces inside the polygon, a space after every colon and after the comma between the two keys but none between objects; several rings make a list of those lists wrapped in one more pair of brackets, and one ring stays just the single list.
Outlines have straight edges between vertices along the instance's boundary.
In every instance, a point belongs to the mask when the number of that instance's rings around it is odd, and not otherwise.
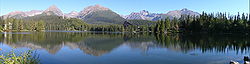
[{"label": "dark reflection of the right-hand conifers in the lake", "polygon": [[196,34],[196,35],[177,35],[166,36],[156,35],[159,44],[166,48],[180,50],[188,53],[192,50],[205,52],[235,51],[238,53],[249,53],[250,37],[246,35],[215,35],[215,34]]}]

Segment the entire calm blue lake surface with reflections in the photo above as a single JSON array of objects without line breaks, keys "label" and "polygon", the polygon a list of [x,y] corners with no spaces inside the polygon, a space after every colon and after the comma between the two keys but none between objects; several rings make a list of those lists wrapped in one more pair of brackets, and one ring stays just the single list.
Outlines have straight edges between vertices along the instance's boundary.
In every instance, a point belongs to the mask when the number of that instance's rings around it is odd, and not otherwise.
[{"label": "entire calm blue lake surface with reflections", "polygon": [[35,49],[43,64],[228,64],[250,55],[250,37],[12,32],[0,34],[0,48]]}]

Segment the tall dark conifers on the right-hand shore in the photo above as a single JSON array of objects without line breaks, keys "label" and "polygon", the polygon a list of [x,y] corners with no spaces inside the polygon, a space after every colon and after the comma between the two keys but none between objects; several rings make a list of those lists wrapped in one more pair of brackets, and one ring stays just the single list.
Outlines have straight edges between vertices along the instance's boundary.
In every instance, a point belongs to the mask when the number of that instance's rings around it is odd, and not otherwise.
[{"label": "tall dark conifers on the right-hand shore", "polygon": [[249,33],[250,18],[244,13],[230,16],[203,12],[200,16],[182,15],[179,19],[160,20],[154,30],[155,33]]}]

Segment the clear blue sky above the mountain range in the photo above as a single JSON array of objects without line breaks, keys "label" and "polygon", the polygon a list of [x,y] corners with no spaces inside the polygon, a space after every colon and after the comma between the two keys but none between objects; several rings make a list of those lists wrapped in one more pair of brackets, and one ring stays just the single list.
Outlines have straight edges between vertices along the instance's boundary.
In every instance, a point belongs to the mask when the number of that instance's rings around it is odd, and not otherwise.
[{"label": "clear blue sky above the mountain range", "polygon": [[167,13],[188,8],[201,13],[227,12],[230,14],[248,13],[249,0],[0,0],[0,15],[12,11],[45,10],[56,5],[64,13],[81,11],[83,8],[100,4],[118,14],[148,10],[154,13]]}]

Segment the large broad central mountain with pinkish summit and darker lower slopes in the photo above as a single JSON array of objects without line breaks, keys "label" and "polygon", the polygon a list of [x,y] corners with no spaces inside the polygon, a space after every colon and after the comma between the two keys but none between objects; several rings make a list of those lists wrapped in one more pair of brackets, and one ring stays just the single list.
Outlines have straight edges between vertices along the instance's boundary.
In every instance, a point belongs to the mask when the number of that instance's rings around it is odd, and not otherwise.
[{"label": "large broad central mountain with pinkish summit and darker lower slopes", "polygon": [[101,5],[84,8],[77,18],[83,19],[89,24],[122,24],[126,21],[119,14]]}]

